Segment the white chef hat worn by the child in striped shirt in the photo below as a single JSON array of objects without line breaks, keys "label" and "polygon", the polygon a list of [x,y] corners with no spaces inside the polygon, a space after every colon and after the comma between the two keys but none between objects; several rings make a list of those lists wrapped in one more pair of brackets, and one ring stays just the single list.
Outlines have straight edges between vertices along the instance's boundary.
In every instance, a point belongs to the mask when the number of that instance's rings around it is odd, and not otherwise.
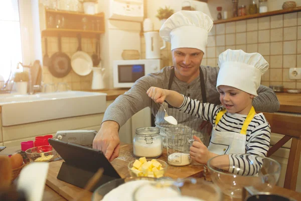
[{"label": "white chef hat worn by the child in striped shirt", "polygon": [[226,50],[219,55],[216,88],[232,86],[257,96],[261,75],[268,69],[268,62],[259,53]]}]

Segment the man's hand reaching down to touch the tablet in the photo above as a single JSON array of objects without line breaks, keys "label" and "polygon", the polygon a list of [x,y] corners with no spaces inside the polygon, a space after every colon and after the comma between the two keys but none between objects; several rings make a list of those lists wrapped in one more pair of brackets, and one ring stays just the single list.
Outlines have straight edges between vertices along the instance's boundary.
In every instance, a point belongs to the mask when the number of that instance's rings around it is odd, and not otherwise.
[{"label": "man's hand reaching down to touch the tablet", "polygon": [[118,129],[119,125],[117,122],[103,122],[93,140],[93,149],[101,150],[109,161],[114,160],[119,155],[120,140]]}]

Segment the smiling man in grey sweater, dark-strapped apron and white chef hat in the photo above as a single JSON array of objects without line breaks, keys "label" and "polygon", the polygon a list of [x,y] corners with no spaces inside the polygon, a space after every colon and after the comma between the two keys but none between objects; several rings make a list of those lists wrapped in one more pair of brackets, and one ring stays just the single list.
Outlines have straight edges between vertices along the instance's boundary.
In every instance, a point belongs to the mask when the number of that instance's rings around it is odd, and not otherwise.
[{"label": "smiling man in grey sweater, dark-strapped apron and white chef hat", "polygon": [[[138,111],[150,107],[156,117],[156,127],[165,136],[165,129],[174,127],[164,120],[164,110],[146,94],[150,86],[175,90],[203,103],[220,104],[216,90],[218,67],[201,66],[208,33],[213,21],[198,11],[180,11],[171,16],[160,29],[160,36],[171,42],[174,66],[167,66],[158,73],[151,73],[138,79],[123,95],[117,97],[103,118],[101,129],[93,140],[93,148],[102,150],[110,161],[118,157],[120,141],[119,128]],[[256,111],[275,112],[279,102],[272,89],[260,86],[252,105]],[[269,103],[269,104],[266,104]],[[178,127],[190,127],[193,135],[204,144],[209,144],[209,136],[200,130],[202,119],[183,113],[167,103],[163,103],[168,114],[178,121]]]}]

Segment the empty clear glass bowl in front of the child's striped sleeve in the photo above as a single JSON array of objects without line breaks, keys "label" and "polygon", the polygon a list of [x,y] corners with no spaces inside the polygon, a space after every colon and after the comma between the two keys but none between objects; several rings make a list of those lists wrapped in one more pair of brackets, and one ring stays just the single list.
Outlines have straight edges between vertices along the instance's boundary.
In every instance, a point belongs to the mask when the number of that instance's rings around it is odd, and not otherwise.
[{"label": "empty clear glass bowl in front of the child's striped sleeve", "polygon": [[[231,169],[236,171],[238,174],[225,171],[224,169],[229,169],[229,163],[223,163],[225,156],[231,159],[231,156],[220,155],[211,158],[208,163],[208,169],[212,181],[221,188],[221,190],[231,196],[241,198],[242,188],[251,186],[258,191],[268,191],[272,188],[278,181],[280,175],[280,164],[271,159],[262,156],[252,155],[252,154],[231,154],[233,157],[239,160],[240,165],[244,164],[242,159],[249,161],[245,164],[245,167],[255,167],[254,173],[249,173],[248,169],[239,168],[239,164],[234,164]],[[257,166],[261,163],[261,166]],[[256,167],[257,166],[257,167]],[[248,172],[248,173],[246,173]],[[252,172],[252,168],[250,168]],[[243,175],[241,174],[243,173]]]}]

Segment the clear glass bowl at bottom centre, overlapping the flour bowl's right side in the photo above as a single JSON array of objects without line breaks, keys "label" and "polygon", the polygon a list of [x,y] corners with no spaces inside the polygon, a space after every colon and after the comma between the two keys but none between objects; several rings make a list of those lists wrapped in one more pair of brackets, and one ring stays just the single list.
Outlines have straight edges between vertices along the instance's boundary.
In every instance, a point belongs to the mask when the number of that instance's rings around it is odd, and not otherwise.
[{"label": "clear glass bowl at bottom centre, overlapping the flour bowl's right side", "polygon": [[216,185],[201,178],[190,177],[145,183],[134,190],[132,200],[221,201],[222,199],[223,194]]}]

